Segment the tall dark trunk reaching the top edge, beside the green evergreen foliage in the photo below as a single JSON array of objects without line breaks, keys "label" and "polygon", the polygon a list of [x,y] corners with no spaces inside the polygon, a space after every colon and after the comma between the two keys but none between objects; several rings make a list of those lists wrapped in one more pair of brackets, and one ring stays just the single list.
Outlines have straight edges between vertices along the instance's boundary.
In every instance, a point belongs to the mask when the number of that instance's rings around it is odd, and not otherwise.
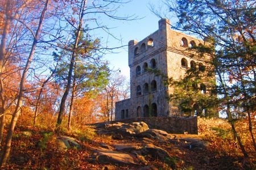
[{"label": "tall dark trunk reaching the top edge, beside the green evergreen foliage", "polygon": [[57,118],[57,124],[56,124],[57,128],[60,126],[60,124],[62,122],[63,114],[64,114],[64,111],[65,111],[65,101],[67,99],[69,90],[71,88],[72,71],[73,71],[73,66],[74,66],[74,63],[75,63],[76,49],[77,49],[77,45],[79,43],[79,38],[80,38],[80,34],[81,34],[82,18],[84,17],[85,5],[86,5],[86,1],[83,1],[83,5],[82,5],[82,9],[81,9],[81,16],[80,16],[80,20],[79,20],[79,27],[77,28],[77,35],[76,35],[75,45],[74,45],[74,48],[73,48],[71,62],[70,62],[70,65],[69,65],[69,70],[68,70],[68,83],[67,83],[67,87],[65,89],[65,92],[64,92],[64,94],[61,98],[61,102],[60,102],[60,111],[59,111],[59,115],[58,115],[58,118]]}]

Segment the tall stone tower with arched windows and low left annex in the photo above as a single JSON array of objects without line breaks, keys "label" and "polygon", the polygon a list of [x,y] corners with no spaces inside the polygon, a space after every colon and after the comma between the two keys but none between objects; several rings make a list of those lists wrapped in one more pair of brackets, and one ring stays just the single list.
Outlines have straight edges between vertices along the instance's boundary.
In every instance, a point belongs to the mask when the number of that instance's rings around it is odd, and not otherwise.
[{"label": "tall stone tower with arched windows and low left annex", "polygon": [[145,39],[129,41],[130,99],[115,103],[115,120],[180,115],[177,107],[167,100],[174,89],[164,85],[163,78],[147,68],[179,79],[188,68],[203,70],[206,65],[207,57],[191,58],[184,53],[188,46],[204,41],[170,29],[168,19],[161,19],[158,24],[159,29]]}]

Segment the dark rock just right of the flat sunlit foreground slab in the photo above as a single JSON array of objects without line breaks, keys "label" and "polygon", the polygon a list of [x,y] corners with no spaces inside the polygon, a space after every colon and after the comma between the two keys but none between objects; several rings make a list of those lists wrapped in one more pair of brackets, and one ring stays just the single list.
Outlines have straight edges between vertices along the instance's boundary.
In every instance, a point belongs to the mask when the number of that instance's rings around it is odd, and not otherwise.
[{"label": "dark rock just right of the flat sunlit foreground slab", "polygon": [[151,155],[152,157],[158,159],[170,157],[167,151],[152,144],[147,144],[140,151],[142,155]]}]

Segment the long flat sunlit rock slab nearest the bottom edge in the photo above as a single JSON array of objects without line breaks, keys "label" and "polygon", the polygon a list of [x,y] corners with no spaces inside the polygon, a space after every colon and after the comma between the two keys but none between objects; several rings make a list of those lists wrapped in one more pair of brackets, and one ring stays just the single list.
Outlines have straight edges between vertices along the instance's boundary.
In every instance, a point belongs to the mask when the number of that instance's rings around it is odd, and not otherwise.
[{"label": "long flat sunlit rock slab nearest the bottom edge", "polygon": [[102,164],[140,164],[140,161],[136,155],[117,151],[96,150],[93,157],[98,163]]}]

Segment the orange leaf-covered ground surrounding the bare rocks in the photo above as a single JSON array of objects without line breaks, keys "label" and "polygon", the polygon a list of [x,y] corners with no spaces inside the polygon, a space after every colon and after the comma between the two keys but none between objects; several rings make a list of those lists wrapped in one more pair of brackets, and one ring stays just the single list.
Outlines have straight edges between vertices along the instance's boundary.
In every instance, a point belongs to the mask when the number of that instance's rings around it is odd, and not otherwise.
[{"label": "orange leaf-covered ground surrounding the bare rocks", "polygon": [[[81,148],[60,150],[56,145],[59,135],[77,139]],[[204,135],[170,135],[172,140],[160,142],[136,137],[114,139],[112,135],[95,133],[91,126],[59,134],[44,128],[18,126],[9,162],[3,169],[242,169],[242,157],[220,154],[211,141],[207,141],[205,148],[191,148],[191,141],[205,141]],[[114,150],[115,145],[143,146],[145,143],[162,148],[170,157],[144,155],[141,164],[102,164],[92,158],[93,152],[104,149],[104,145]]]}]

